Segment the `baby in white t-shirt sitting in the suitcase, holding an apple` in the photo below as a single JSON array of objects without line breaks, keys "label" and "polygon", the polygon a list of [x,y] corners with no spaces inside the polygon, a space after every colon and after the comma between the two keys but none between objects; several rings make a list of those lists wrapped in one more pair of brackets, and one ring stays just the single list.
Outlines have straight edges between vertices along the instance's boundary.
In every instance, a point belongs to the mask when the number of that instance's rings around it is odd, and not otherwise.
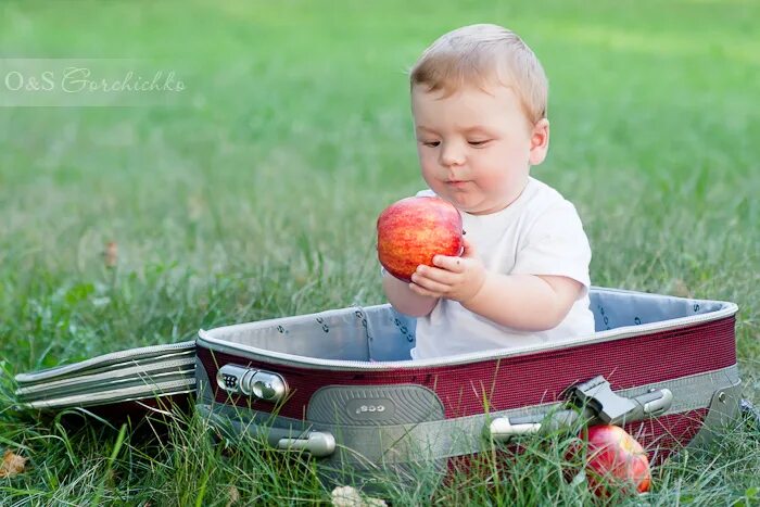
[{"label": "baby in white t-shirt sitting in the suitcase, holding an apple", "polygon": [[548,84],[531,49],[496,25],[451,31],[410,73],[422,177],[463,216],[460,257],[436,255],[406,283],[416,359],[549,344],[594,332],[591,249],[575,207],[530,176],[549,145]]}]

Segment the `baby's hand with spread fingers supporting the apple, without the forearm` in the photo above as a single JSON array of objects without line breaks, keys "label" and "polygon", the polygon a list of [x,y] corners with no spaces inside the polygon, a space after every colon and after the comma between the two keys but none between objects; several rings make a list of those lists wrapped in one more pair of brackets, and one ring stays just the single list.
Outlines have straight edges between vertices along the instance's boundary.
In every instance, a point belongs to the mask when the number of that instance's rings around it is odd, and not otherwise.
[{"label": "baby's hand with spread fingers supporting the apple, without the forearm", "polygon": [[435,267],[417,266],[409,283],[413,292],[464,303],[472,299],[485,282],[485,267],[467,239],[460,257],[436,255],[433,264]]}]

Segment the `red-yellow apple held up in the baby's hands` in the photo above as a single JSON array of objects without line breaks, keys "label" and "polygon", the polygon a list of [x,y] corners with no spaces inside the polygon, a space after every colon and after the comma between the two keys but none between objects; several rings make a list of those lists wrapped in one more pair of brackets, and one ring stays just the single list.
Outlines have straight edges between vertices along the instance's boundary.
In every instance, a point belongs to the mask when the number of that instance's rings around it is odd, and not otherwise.
[{"label": "red-yellow apple held up in the baby's hands", "polygon": [[417,266],[432,266],[435,255],[461,255],[463,250],[461,215],[442,199],[402,199],[378,218],[378,258],[400,280],[410,281]]}]

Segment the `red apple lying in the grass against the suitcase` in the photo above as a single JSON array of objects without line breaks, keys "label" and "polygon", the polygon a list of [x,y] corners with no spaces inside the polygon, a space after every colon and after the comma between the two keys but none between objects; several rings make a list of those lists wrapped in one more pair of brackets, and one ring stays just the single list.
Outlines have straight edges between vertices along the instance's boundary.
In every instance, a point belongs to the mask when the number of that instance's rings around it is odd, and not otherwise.
[{"label": "red apple lying in the grass against the suitcase", "polygon": [[[583,433],[581,438],[588,445],[586,481],[596,495],[607,497],[615,489],[649,491],[649,459],[636,439],[612,424],[592,426]],[[571,449],[571,454],[578,452],[579,448]]]}]

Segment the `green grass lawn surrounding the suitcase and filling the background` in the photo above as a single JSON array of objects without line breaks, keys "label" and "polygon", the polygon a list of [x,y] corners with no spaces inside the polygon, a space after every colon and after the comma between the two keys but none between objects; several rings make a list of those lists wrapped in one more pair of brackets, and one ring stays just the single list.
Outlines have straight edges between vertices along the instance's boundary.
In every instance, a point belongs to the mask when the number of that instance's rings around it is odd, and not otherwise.
[{"label": "green grass lawn surrounding the suitcase and filling the background", "polygon": [[[231,486],[240,504],[329,499],[309,464],[225,451],[195,419],[161,444],[21,418],[2,408],[10,379],[201,327],[382,302],[375,219],[422,187],[404,73],[474,22],[517,30],[549,75],[552,150],[535,176],[580,210],[594,283],[736,302],[758,400],[756,2],[225,4],[0,5],[0,58],[135,58],[188,87],[167,107],[0,107],[0,449],[30,458],[0,479],[1,505],[226,505]],[[759,502],[757,438],[737,429],[668,461],[646,502]],[[420,480],[387,498],[588,502],[557,473],[563,442],[530,444],[498,480]]]}]

